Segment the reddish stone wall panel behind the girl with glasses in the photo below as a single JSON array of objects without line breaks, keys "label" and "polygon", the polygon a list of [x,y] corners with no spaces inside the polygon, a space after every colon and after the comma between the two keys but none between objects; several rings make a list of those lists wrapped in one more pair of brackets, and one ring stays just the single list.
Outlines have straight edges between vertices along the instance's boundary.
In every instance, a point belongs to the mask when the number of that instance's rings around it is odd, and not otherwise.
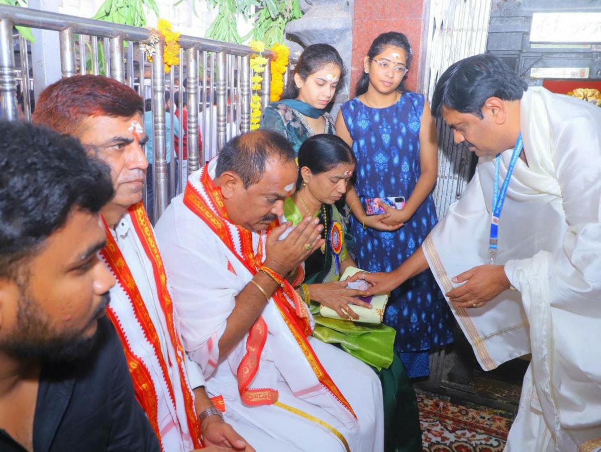
[{"label": "reddish stone wall panel behind the girl with glasses", "polygon": [[[413,59],[405,83],[407,89],[415,91],[423,4],[424,0],[355,0],[350,98],[355,97],[355,86],[361,77],[363,58],[367,55],[371,41],[380,33],[387,31],[401,32],[409,39],[413,50]],[[424,25],[427,26],[427,24]]]}]

